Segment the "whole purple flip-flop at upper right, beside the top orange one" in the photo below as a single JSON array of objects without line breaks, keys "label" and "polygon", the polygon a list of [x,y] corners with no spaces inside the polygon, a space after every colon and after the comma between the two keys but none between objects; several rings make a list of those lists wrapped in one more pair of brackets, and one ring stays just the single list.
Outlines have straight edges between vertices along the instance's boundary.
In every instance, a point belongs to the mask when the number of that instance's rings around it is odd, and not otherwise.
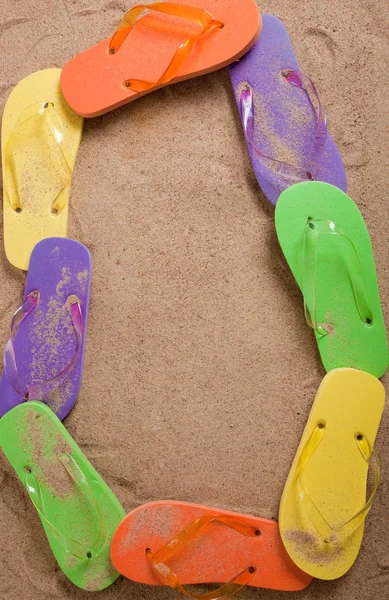
[{"label": "whole purple flip-flop at upper right, beside the top orange one", "polygon": [[300,73],[277,17],[263,15],[260,39],[230,66],[230,76],[255,175],[272,204],[298,181],[326,181],[346,191],[346,172],[317,90]]}]

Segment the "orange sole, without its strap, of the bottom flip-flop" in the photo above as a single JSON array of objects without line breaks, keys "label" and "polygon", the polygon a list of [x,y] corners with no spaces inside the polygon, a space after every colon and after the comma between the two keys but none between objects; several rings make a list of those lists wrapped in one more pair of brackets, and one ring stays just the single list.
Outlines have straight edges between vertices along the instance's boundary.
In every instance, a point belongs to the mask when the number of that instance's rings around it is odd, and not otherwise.
[{"label": "orange sole, without its strap, of the bottom flip-flop", "polygon": [[301,590],[311,583],[312,578],[289,559],[276,522],[186,502],[151,502],[128,514],[112,540],[114,566],[133,581],[161,585],[146,549],[158,551],[204,515],[243,519],[258,528],[261,535],[246,537],[222,523],[210,524],[169,562],[183,584],[227,582],[249,565],[257,567],[250,586]]}]

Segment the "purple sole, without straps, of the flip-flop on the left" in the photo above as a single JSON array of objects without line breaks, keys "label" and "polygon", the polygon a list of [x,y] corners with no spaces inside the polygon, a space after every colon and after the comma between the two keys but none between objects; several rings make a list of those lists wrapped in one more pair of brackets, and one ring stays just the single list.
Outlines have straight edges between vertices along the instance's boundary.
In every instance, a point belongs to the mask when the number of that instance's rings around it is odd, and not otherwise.
[{"label": "purple sole, without straps, of the flip-flop on the left", "polygon": [[[68,377],[43,400],[60,419],[74,406],[80,390],[91,284],[91,258],[85,246],[66,238],[48,238],[32,252],[25,298],[34,290],[40,299],[34,311],[19,325],[14,338],[20,375],[26,383],[50,379],[71,360],[77,340],[67,308],[68,299],[80,302],[84,334],[78,361]],[[0,379],[0,415],[23,400],[11,387],[3,370]]]}]

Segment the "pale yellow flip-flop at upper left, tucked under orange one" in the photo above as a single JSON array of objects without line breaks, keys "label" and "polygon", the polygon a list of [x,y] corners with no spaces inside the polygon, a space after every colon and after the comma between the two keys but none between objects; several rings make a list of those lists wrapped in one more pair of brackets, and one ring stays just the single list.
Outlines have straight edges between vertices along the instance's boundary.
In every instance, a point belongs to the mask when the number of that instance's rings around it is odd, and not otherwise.
[{"label": "pale yellow flip-flop at upper left, tucked under orange one", "polygon": [[60,74],[46,69],[29,75],[4,108],[4,245],[10,263],[24,270],[35,244],[67,234],[83,119],[66,104]]}]

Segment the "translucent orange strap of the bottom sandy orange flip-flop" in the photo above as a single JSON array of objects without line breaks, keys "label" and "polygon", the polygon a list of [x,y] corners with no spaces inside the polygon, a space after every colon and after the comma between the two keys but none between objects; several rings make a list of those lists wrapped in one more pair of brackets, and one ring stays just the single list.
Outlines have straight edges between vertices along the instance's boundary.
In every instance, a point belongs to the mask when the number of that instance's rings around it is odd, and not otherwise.
[{"label": "translucent orange strap of the bottom sandy orange flip-flop", "polygon": [[158,552],[153,552],[151,548],[147,548],[146,550],[146,555],[152,568],[163,583],[194,600],[219,600],[221,598],[231,597],[249,583],[257,570],[253,565],[246,567],[241,573],[231,579],[231,581],[225,583],[217,590],[206,594],[191,594],[183,587],[176,573],[166,564],[166,561],[190,544],[201,531],[213,522],[223,523],[227,527],[249,537],[259,537],[261,535],[261,531],[258,528],[250,525],[243,519],[230,517],[228,515],[208,515],[200,517],[193,523],[190,523],[163,548],[158,550]]}]

